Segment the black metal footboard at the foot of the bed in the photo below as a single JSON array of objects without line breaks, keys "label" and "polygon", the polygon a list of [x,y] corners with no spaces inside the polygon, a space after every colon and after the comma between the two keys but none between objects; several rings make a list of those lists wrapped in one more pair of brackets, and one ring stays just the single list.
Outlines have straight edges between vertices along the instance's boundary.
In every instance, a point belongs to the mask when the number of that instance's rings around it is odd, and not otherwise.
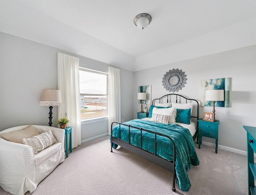
[{"label": "black metal footboard at the foot of the bed", "polygon": [[[121,125],[125,125],[129,128],[129,133],[128,133],[128,142],[126,141],[123,141],[122,139],[119,138],[116,138],[116,137],[113,137],[112,136],[112,130],[113,130],[113,124],[116,123],[116,124],[119,124],[119,131],[120,131],[120,126]],[[130,143],[130,128],[135,128],[135,129],[138,129],[140,130],[140,147],[137,147],[135,145],[132,145]],[[142,131],[146,131],[146,132],[149,132],[149,133],[153,133],[154,134],[154,154],[153,153],[150,153],[144,149],[142,149]],[[121,133],[119,133],[120,135]],[[159,136],[163,136],[163,137],[166,137],[168,139],[170,139],[170,141],[172,142],[173,144],[173,161],[168,161],[166,159],[163,159],[162,157],[159,157],[158,155],[156,155],[156,135],[159,135]],[[126,124],[123,124],[123,123],[119,123],[119,122],[112,122],[111,123],[111,141],[110,141],[110,145],[111,145],[111,149],[110,151],[113,152],[113,143],[116,143],[117,145],[120,145],[121,147],[129,150],[129,151],[132,151],[133,153],[137,154],[137,155],[140,155],[141,157],[144,157],[145,159],[148,159],[149,161],[169,170],[172,172],[172,191],[176,191],[176,188],[175,188],[175,178],[176,178],[176,169],[175,169],[175,161],[176,161],[176,148],[175,148],[175,143],[174,141],[172,140],[172,138],[170,138],[169,136],[167,135],[163,135],[161,133],[157,133],[157,132],[153,132],[153,131],[150,131],[150,130],[147,130],[147,129],[143,129],[143,128],[138,128],[138,127],[134,127],[132,125],[126,125]]]}]

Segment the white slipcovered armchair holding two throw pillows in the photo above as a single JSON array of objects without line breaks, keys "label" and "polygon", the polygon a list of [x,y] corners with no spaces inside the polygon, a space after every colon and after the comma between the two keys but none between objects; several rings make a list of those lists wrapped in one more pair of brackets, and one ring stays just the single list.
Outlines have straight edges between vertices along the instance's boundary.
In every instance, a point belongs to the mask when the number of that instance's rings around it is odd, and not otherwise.
[{"label": "white slipcovered armchair holding two throw pillows", "polygon": [[[38,183],[65,159],[64,129],[32,125],[38,133],[51,130],[52,135],[57,140],[57,143],[53,142],[50,146],[43,146],[43,150],[36,154],[34,154],[35,149],[33,150],[30,145],[15,143],[1,138],[2,133],[18,132],[17,130],[26,129],[28,126],[23,125],[0,131],[0,186],[14,195],[24,195],[26,191],[30,191],[30,193],[34,191]],[[44,133],[41,135],[44,135]]]}]

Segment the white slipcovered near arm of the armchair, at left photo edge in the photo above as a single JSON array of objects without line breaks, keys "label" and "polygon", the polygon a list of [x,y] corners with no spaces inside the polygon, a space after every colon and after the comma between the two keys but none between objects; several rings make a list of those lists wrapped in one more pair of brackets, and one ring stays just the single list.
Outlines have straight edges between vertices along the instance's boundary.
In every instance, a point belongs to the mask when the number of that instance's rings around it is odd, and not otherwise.
[{"label": "white slipcovered near arm of the armchair, at left photo edge", "polygon": [[[35,158],[32,147],[0,138],[0,173],[0,186],[3,189],[12,189],[16,194],[23,191],[26,179],[33,185]],[[35,189],[36,186],[31,188]]]}]

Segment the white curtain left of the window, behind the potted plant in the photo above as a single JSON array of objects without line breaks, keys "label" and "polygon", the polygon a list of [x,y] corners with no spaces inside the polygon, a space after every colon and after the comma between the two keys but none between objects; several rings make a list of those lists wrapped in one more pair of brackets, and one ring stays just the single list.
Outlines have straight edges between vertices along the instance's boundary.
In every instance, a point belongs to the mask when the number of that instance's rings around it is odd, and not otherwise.
[{"label": "white curtain left of the window, behind the potted plant", "polygon": [[58,90],[62,105],[58,106],[58,118],[70,120],[72,148],[81,145],[81,117],[79,92],[79,58],[58,52]]}]

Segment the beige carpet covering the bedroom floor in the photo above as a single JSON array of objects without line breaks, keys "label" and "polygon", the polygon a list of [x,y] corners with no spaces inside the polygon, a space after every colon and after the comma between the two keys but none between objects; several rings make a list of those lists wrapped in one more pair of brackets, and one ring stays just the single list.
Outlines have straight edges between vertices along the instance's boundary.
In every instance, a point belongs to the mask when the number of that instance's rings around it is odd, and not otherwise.
[{"label": "beige carpet covering the bedroom floor", "polygon": [[[191,188],[172,191],[172,173],[119,148],[107,137],[85,143],[48,175],[32,195],[246,195],[247,157],[202,145],[200,165],[188,171]],[[30,193],[27,192],[26,195]],[[0,188],[0,195],[10,195]]]}]

